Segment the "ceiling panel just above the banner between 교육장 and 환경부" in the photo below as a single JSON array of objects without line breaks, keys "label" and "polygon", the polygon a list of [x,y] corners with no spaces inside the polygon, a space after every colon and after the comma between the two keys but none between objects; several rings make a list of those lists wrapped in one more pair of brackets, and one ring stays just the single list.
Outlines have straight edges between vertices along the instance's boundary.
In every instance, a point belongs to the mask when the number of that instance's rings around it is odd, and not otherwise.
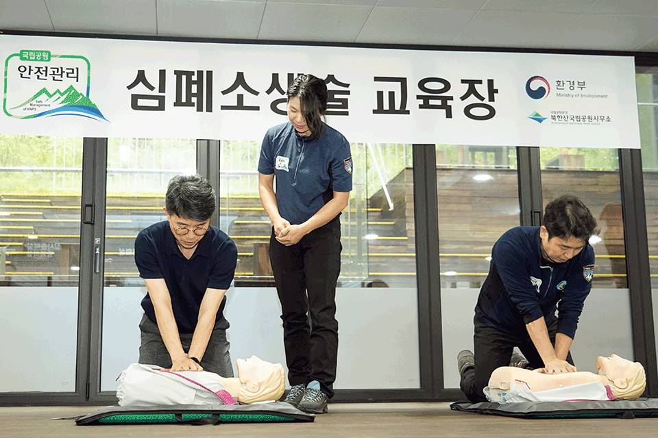
[{"label": "ceiling panel just above the banner between \uad50\uc721\uc7a5 and \ud658\uacbd\ubd80", "polygon": [[578,14],[480,11],[454,44],[493,47],[546,47]]}]

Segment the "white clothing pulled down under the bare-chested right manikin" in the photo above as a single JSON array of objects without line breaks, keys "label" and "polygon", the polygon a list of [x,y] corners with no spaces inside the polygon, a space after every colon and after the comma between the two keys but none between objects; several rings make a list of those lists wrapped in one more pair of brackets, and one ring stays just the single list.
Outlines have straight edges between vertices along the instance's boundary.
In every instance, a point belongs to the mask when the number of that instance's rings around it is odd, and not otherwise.
[{"label": "white clothing pulled down under the bare-chested right manikin", "polygon": [[583,383],[563,388],[547,389],[546,391],[531,391],[527,385],[511,383],[509,390],[485,387],[483,390],[487,400],[494,403],[518,402],[567,402],[578,400],[615,400],[609,387],[600,382]]}]

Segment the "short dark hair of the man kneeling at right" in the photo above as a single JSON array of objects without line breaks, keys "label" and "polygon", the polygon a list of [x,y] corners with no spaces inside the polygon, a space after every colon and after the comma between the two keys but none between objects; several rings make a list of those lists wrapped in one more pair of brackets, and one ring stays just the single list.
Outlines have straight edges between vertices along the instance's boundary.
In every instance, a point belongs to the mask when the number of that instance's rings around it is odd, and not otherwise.
[{"label": "short dark hair of the man kneeling at right", "polygon": [[584,240],[585,244],[589,242],[589,237],[598,234],[592,212],[583,201],[571,194],[555,198],[546,205],[544,227],[548,231],[548,239],[575,237]]}]

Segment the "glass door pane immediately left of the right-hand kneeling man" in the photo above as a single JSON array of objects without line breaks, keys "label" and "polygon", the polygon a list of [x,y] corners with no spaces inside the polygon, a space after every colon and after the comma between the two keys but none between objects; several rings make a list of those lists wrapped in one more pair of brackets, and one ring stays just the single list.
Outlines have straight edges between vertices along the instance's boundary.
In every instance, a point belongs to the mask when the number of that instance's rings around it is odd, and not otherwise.
[{"label": "glass door pane immediately left of the right-hand kneeling man", "polygon": [[459,388],[456,357],[473,350],[473,315],[491,248],[520,225],[516,148],[437,144],[444,387]]}]

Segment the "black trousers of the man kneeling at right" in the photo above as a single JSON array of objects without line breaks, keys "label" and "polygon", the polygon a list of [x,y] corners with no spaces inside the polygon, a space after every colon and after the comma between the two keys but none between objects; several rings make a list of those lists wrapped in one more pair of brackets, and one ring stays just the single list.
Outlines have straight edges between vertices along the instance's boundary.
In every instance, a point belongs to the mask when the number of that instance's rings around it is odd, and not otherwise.
[{"label": "black trousers of the man kneeling at right", "polygon": [[[491,326],[487,326],[474,318],[475,334],[473,336],[475,357],[475,368],[469,368],[461,375],[459,386],[466,394],[468,400],[473,403],[486,402],[487,398],[483,389],[489,385],[491,373],[498,367],[509,366],[514,347],[518,347],[522,354],[528,359],[532,368],[544,368],[535,344],[528,335],[510,335]],[[548,326],[548,337],[555,346],[555,335],[557,334],[558,320],[555,318]],[[567,355],[567,361],[574,365],[571,352]]]}]

